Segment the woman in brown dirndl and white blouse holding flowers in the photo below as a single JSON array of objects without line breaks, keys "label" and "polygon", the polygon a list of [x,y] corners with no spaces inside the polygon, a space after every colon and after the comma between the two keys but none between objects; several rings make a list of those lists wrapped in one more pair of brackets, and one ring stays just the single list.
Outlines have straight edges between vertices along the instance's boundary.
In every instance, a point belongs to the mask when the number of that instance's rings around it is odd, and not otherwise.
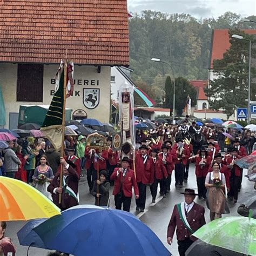
[{"label": "woman in brown dirndl and white blouse holding flowers", "polygon": [[210,210],[210,219],[221,218],[221,214],[227,213],[225,187],[226,180],[223,173],[220,172],[220,165],[216,162],[212,164],[213,171],[208,172],[205,178],[206,205]]}]

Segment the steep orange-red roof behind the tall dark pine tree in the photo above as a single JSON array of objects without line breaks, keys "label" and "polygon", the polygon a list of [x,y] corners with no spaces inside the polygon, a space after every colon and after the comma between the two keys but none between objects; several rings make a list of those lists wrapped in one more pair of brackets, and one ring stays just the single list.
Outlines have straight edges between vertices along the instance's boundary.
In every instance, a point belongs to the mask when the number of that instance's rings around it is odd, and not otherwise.
[{"label": "steep orange-red roof behind the tall dark pine tree", "polygon": [[[242,30],[247,34],[256,34],[255,29]],[[210,69],[213,69],[213,60],[222,59],[224,53],[230,48],[230,36],[228,29],[214,29],[212,32],[212,49],[210,56]]]}]

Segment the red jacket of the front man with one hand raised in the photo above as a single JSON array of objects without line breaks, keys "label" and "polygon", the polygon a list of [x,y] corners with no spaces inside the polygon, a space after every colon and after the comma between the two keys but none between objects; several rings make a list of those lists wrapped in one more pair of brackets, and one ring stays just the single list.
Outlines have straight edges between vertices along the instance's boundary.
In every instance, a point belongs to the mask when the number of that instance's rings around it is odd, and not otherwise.
[{"label": "red jacket of the front man with one hand raised", "polygon": [[110,179],[114,180],[114,189],[113,195],[121,192],[123,190],[125,197],[132,197],[132,187],[134,188],[134,193],[139,194],[139,188],[134,176],[134,171],[131,169],[127,169],[125,177],[123,177],[123,172],[117,174],[119,168],[115,168]]}]

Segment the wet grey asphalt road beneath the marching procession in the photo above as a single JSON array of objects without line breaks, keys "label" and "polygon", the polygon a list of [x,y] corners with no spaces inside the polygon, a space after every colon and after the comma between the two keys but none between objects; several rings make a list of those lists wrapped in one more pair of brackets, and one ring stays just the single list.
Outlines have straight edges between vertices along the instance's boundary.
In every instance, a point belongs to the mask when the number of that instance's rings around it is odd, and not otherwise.
[{"label": "wet grey asphalt road beneath the marching procession", "polygon": [[[247,172],[247,170],[244,171],[244,174]],[[247,178],[243,178],[242,180],[242,188],[241,192],[239,193],[239,196],[241,197],[242,194],[248,191],[253,191],[253,183],[248,181]],[[190,173],[188,176],[188,183],[185,183],[183,188],[175,188],[174,186],[174,172],[172,173],[172,184],[171,184],[171,191],[169,194],[167,194],[166,198],[162,198],[160,196],[157,196],[156,204],[151,204],[152,197],[150,194],[149,187],[147,188],[147,200],[146,200],[146,207],[144,213],[136,212],[136,205],[134,198],[132,199],[132,205],[131,205],[131,213],[137,215],[140,220],[142,220],[147,226],[149,226],[154,233],[157,234],[159,239],[163,242],[163,244],[166,246],[166,248],[174,255],[178,256],[178,247],[177,247],[177,240],[176,235],[174,235],[173,244],[170,246],[166,242],[166,232],[167,232],[167,226],[169,224],[171,213],[173,210],[173,206],[177,203],[180,203],[181,201],[184,201],[183,194],[180,194],[180,192],[184,191],[184,188],[194,188],[197,190],[196,185],[196,176],[194,174],[194,164],[191,164],[190,166]],[[79,184],[79,194],[80,194],[80,204],[94,204],[95,199],[89,194],[89,189],[86,183],[86,179],[82,178]],[[111,192],[112,194],[112,187]],[[238,198],[239,199],[239,198]],[[205,218],[206,222],[210,221],[209,217],[209,210],[207,209],[205,205],[204,200],[199,200],[198,197],[195,199],[196,203],[205,206]],[[230,214],[227,215],[238,215],[237,214],[237,208],[239,204],[233,204],[228,202],[228,205],[230,207]],[[111,196],[111,202],[110,207],[114,208],[114,200],[113,196]],[[10,221],[8,223],[6,236],[11,237],[16,245],[16,255],[17,256],[25,256],[26,251],[28,250],[28,247],[19,245],[18,238],[16,233],[23,227],[25,224],[24,221]],[[31,247],[29,250],[29,255],[33,256],[45,256],[48,254],[48,250],[42,250],[38,248]],[[105,254],[107,255],[107,254]],[[136,255],[133,255],[136,256]],[[152,255],[153,256],[153,255]]]}]

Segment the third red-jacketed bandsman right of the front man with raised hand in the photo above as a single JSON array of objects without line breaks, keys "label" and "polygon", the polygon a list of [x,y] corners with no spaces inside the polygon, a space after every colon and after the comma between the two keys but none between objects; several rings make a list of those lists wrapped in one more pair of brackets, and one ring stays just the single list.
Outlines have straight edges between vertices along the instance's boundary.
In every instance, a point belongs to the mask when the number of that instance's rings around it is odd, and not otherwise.
[{"label": "third red-jacketed bandsman right of the front man with raised hand", "polygon": [[159,157],[161,158],[165,169],[167,170],[168,177],[165,180],[163,190],[160,191],[161,196],[166,196],[166,193],[170,192],[171,190],[171,182],[172,182],[172,171],[173,171],[173,161],[172,161],[172,155],[169,151],[169,146],[166,144],[163,144],[162,146],[162,152],[159,153]]}]

